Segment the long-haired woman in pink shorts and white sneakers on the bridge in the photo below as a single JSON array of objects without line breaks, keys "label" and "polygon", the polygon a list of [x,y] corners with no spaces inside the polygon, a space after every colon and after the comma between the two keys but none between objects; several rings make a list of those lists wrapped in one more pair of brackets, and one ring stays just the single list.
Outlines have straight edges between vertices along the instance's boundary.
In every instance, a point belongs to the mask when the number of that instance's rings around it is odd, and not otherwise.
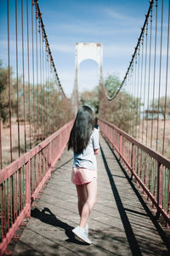
[{"label": "long-haired woman in pink shorts and white sneakers on the bridge", "polygon": [[88,217],[97,200],[97,165],[95,154],[99,153],[99,130],[94,128],[94,113],[88,106],[82,106],[71,130],[68,150],[74,151],[71,174],[76,184],[80,224],[73,231],[75,235],[91,244],[88,239]]}]

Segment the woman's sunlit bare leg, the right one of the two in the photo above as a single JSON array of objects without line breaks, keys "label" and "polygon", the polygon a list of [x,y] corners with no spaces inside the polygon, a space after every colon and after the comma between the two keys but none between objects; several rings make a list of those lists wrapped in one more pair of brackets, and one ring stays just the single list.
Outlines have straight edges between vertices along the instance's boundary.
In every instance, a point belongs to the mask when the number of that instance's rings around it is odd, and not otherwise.
[{"label": "woman's sunlit bare leg, the right one of the two", "polygon": [[80,218],[80,227],[82,228],[86,226],[90,212],[92,211],[92,208],[97,201],[97,180],[95,179],[93,182],[84,184],[83,186],[88,192],[88,198],[82,207]]}]

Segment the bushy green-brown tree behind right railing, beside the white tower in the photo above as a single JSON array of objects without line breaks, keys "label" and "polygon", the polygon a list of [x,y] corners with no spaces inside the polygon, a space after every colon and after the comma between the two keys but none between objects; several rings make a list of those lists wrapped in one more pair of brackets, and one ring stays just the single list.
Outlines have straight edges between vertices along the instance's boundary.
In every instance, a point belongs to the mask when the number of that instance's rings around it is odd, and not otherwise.
[{"label": "bushy green-brown tree behind right railing, beside the white tower", "polygon": [[[104,81],[108,96],[115,95],[120,87],[120,80],[115,75],[109,75]],[[140,106],[139,98],[130,96],[124,90],[121,90],[116,98],[108,101],[105,98],[104,90],[101,90],[99,102],[99,116],[108,122],[113,123],[123,131],[135,131],[134,126],[139,125]],[[135,134],[133,134],[135,136]]]}]

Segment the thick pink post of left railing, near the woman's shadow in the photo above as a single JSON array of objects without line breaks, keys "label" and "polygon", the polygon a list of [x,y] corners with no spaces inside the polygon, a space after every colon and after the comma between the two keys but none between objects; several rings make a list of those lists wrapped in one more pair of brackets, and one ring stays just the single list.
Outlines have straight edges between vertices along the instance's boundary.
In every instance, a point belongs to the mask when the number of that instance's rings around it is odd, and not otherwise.
[{"label": "thick pink post of left railing, near the woman's shadow", "polygon": [[26,218],[31,217],[31,161],[28,160],[25,166],[26,170],[26,205],[29,205],[29,210],[26,212]]}]

